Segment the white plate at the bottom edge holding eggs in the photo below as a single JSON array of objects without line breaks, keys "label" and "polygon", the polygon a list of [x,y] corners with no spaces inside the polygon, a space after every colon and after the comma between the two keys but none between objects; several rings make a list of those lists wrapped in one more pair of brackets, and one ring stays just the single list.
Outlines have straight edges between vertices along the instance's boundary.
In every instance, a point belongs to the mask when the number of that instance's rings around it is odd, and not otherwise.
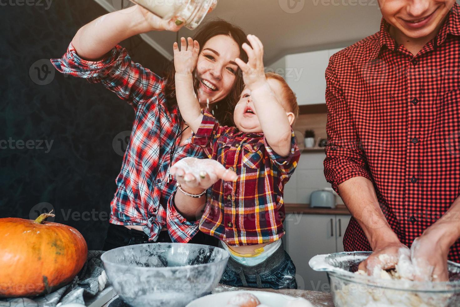
[{"label": "white plate at the bottom edge holding eggs", "polygon": [[267,291],[229,291],[200,297],[185,307],[225,307],[230,298],[239,293],[251,293],[259,299],[261,304],[269,307],[283,307],[289,301],[298,299],[297,297]]}]

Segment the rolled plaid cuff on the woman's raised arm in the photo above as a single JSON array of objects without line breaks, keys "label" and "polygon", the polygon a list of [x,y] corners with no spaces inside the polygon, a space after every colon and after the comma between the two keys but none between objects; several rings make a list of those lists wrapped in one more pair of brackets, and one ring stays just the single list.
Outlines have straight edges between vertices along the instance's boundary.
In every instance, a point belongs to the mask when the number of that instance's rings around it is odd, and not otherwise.
[{"label": "rolled plaid cuff on the woman's raised arm", "polygon": [[87,61],[80,58],[75,47],[70,43],[67,52],[62,58],[52,58],[51,63],[61,73],[81,78],[104,77],[115,74],[111,71],[123,58],[126,50],[121,46],[115,46],[98,61]]}]

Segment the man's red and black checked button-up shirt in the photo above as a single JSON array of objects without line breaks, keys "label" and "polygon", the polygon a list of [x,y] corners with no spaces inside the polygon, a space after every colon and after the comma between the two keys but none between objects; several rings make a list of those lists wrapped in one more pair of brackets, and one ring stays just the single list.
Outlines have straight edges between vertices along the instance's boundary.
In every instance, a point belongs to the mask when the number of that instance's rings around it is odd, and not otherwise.
[{"label": "man's red and black checked button-up shirt", "polygon": [[[382,19],[380,32],[336,53],[326,70],[326,178],[336,191],[352,177],[371,180],[409,247],[460,196],[459,9],[415,57]],[[371,250],[355,219],[344,246]],[[460,241],[449,259],[460,262]]]}]

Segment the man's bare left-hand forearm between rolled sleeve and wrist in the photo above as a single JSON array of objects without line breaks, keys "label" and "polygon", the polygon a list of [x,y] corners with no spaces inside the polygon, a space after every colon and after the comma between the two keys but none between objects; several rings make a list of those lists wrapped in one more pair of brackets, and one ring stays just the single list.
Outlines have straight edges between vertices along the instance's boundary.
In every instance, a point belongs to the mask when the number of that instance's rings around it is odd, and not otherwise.
[{"label": "man's bare left-hand forearm between rolled sleeve and wrist", "polygon": [[358,221],[373,250],[399,242],[380,208],[374,185],[365,177],[353,177],[339,185],[339,192],[351,215]]}]

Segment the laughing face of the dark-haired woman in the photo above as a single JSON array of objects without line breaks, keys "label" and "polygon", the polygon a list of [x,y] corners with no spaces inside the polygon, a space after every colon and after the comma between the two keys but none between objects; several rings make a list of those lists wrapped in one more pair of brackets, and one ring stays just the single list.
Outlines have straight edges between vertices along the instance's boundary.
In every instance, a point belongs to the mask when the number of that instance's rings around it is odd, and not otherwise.
[{"label": "laughing face of the dark-haired woman", "polygon": [[199,81],[198,100],[201,104],[218,102],[230,93],[235,84],[240,47],[227,35],[216,35],[201,48],[196,64]]}]

